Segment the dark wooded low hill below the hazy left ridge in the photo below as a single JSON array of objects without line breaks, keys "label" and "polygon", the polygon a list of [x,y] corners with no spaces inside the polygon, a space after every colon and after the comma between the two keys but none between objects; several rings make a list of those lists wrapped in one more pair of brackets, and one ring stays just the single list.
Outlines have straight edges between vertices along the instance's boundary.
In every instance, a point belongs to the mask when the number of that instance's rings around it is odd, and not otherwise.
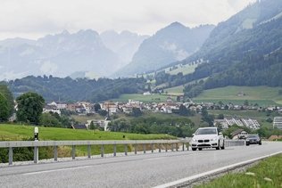
[{"label": "dark wooded low hill below the hazy left ridge", "polygon": [[138,94],[146,90],[144,78],[72,79],[29,76],[6,84],[15,96],[32,91],[41,94],[47,102],[101,102],[118,98],[120,94]]}]

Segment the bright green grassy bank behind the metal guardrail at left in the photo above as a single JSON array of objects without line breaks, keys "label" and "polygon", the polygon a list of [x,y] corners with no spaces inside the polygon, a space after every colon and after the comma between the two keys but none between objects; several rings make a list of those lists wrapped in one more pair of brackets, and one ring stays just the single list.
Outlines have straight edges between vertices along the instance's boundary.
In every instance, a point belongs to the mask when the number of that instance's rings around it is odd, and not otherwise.
[{"label": "bright green grassy bank behind the metal guardrail at left", "polygon": [[[141,135],[117,132],[104,132],[92,130],[74,130],[67,128],[38,127],[39,139],[42,140],[156,140],[156,139],[175,139],[170,135]],[[33,137],[34,127],[20,125],[0,125],[0,140],[19,141]],[[105,146],[105,153],[112,152],[112,146]],[[123,151],[124,147],[118,145],[117,151]],[[100,152],[99,146],[92,146],[92,154]],[[132,151],[132,146],[129,146]],[[87,155],[87,146],[77,147],[78,156]],[[52,154],[53,155],[53,154]],[[51,155],[51,156],[52,156]],[[71,156],[71,147],[59,148],[59,157]]]}]

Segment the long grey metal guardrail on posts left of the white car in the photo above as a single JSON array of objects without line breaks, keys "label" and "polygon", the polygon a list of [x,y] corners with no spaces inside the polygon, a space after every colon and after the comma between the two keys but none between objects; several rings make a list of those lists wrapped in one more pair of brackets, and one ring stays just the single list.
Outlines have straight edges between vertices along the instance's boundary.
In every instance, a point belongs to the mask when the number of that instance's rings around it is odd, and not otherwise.
[{"label": "long grey metal guardrail on posts left of the white car", "polygon": [[137,154],[138,145],[143,145],[143,152],[146,152],[146,144],[150,144],[151,151],[153,152],[153,145],[157,144],[159,152],[161,152],[161,144],[165,145],[165,151],[168,151],[168,145],[170,150],[178,151],[179,144],[182,144],[182,151],[185,151],[185,145],[187,144],[187,150],[189,149],[190,139],[182,140],[127,140],[127,141],[9,141],[0,142],[0,148],[9,148],[9,165],[12,165],[12,149],[18,147],[34,147],[34,163],[38,163],[38,147],[53,146],[54,147],[54,160],[58,160],[58,146],[72,146],[71,157],[75,159],[76,146],[87,146],[87,158],[91,158],[91,145],[100,145],[101,157],[104,157],[104,145],[113,146],[113,156],[116,156],[117,145],[124,145],[124,153],[128,155],[128,145],[133,145],[135,154]]}]

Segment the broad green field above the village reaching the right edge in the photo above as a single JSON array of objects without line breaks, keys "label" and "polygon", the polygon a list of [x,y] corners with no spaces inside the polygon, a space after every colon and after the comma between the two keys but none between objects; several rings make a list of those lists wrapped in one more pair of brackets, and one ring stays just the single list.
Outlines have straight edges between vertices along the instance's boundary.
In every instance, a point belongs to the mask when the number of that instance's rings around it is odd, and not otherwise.
[{"label": "broad green field above the village reaching the right edge", "polygon": [[[203,91],[202,94],[195,97],[195,102],[233,102],[236,104],[243,104],[248,100],[250,104],[259,104],[262,106],[282,104],[282,95],[278,91],[282,87],[269,86],[226,86],[216,89],[209,89]],[[238,94],[245,94],[239,96]]]}]

